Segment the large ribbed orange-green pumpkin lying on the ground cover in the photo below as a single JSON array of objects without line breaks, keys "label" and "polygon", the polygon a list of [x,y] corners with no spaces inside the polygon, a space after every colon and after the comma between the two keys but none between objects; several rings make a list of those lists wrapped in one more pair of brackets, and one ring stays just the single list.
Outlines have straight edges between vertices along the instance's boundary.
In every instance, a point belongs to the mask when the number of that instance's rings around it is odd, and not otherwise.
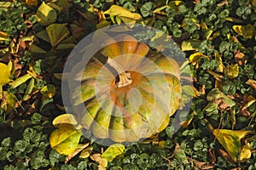
[{"label": "large ribbed orange-green pumpkin lying on the ground cover", "polygon": [[130,35],[106,42],[74,76],[81,82],[71,89],[79,123],[96,138],[114,142],[138,141],[164,130],[181,97],[177,62]]}]

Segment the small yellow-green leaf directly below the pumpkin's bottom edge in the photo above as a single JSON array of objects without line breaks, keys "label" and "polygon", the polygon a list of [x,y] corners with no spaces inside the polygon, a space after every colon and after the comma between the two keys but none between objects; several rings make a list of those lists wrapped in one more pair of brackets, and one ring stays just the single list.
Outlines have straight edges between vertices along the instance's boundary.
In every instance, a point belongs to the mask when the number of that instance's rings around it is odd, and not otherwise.
[{"label": "small yellow-green leaf directly below the pumpkin's bottom edge", "polygon": [[113,158],[124,153],[125,146],[123,144],[112,144],[102,153],[102,158],[113,161]]}]

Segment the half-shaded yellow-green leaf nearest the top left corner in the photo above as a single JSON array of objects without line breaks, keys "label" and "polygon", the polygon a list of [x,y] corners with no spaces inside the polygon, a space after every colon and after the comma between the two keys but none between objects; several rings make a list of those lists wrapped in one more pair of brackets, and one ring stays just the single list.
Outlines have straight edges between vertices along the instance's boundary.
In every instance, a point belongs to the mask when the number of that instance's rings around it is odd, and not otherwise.
[{"label": "half-shaded yellow-green leaf nearest the top left corner", "polygon": [[45,4],[43,1],[43,3],[41,3],[40,7],[38,8],[37,19],[42,26],[48,26],[49,24],[55,22],[57,19],[57,13],[55,9],[49,7],[49,5]]}]

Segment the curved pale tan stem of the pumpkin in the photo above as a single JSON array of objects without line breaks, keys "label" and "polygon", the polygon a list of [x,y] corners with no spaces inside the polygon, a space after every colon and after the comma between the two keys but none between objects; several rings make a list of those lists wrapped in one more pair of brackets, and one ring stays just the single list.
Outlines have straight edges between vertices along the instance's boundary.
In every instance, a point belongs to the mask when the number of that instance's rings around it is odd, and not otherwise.
[{"label": "curved pale tan stem of the pumpkin", "polygon": [[118,88],[125,87],[131,84],[131,74],[129,71],[124,71],[121,65],[119,65],[114,59],[108,58],[108,65],[112,66],[115,71],[118,73],[118,81],[116,82],[116,86]]}]

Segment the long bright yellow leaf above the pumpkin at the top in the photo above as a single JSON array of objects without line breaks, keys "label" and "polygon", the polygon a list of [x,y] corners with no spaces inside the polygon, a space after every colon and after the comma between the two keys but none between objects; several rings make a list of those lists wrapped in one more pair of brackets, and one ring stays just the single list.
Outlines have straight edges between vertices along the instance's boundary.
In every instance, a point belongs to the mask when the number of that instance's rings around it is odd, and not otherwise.
[{"label": "long bright yellow leaf above the pumpkin at the top", "polygon": [[[127,10],[126,8],[119,7],[118,5],[112,5],[104,14],[109,14],[113,16],[118,16],[123,21],[130,21],[131,20],[141,20],[142,16],[137,13],[131,13],[131,11]],[[128,20],[130,19],[130,20]]]}]

